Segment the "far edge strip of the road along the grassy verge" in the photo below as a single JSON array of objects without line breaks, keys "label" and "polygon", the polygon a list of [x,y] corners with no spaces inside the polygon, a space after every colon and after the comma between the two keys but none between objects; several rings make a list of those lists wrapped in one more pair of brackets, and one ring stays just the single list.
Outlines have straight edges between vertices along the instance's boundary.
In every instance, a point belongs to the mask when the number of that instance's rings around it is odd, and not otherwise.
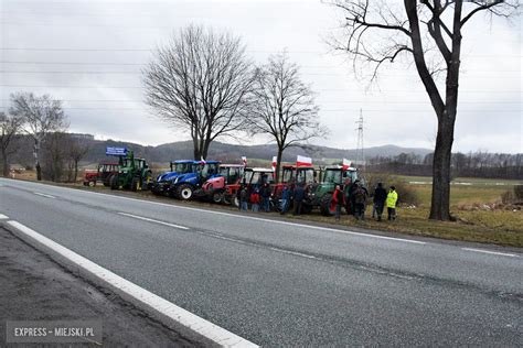
[{"label": "far edge strip of the road along the grassy verge", "polygon": [[[22,183],[30,183],[30,184],[35,184],[35,185],[44,185],[44,186],[50,186],[50,187],[55,187],[55,188],[61,188],[61,189],[72,189],[72,191],[79,191],[84,192],[87,194],[92,195],[102,195],[102,196],[108,196],[108,197],[115,197],[119,199],[128,199],[128,200],[134,200],[134,202],[146,202],[150,203],[153,205],[160,205],[160,206],[171,206],[174,208],[179,209],[188,209],[188,210],[203,210],[207,211],[211,214],[220,214],[220,215],[230,215],[230,216],[236,216],[236,217],[246,217],[248,219],[255,219],[255,220],[266,220],[268,222],[274,221],[277,224],[285,224],[285,225],[296,225],[296,226],[308,226],[311,228],[319,228],[319,229],[324,229],[324,230],[330,230],[330,231],[339,231],[339,232],[353,232],[355,235],[367,235],[370,237],[381,237],[385,239],[397,239],[397,240],[412,240],[414,242],[419,242],[419,243],[440,243],[440,244],[448,244],[448,246],[455,246],[455,247],[461,247],[466,249],[473,249],[473,248],[479,248],[479,249],[487,249],[491,251],[501,251],[501,252],[515,252],[520,257],[523,257],[522,254],[522,248],[517,247],[511,247],[511,246],[501,246],[501,244],[494,244],[494,243],[484,243],[484,242],[474,242],[474,241],[463,241],[463,240],[452,240],[452,239],[442,239],[442,238],[435,238],[435,237],[429,237],[429,236],[413,236],[413,235],[398,235],[394,232],[388,232],[388,231],[382,231],[382,230],[374,230],[374,229],[366,229],[366,228],[361,228],[361,227],[355,227],[355,226],[342,226],[342,225],[333,225],[333,224],[328,224],[328,222],[319,222],[319,221],[310,221],[310,220],[300,220],[300,219],[292,219],[292,218],[281,218],[279,216],[258,216],[258,215],[253,215],[252,213],[238,213],[236,209],[221,209],[221,208],[215,208],[211,206],[196,206],[192,204],[183,204],[183,203],[177,203],[177,202],[163,202],[163,199],[150,199],[149,197],[137,197],[136,195],[129,195],[126,194],[125,192],[109,192],[109,193],[102,193],[102,192],[93,192],[89,189],[85,189],[84,187],[72,187],[68,185],[60,185],[60,184],[54,184],[54,183],[38,183],[34,181],[26,181],[26,180],[13,180],[13,178],[6,178],[8,181],[14,181],[14,182],[22,182]],[[467,248],[468,247],[468,248]]]}]

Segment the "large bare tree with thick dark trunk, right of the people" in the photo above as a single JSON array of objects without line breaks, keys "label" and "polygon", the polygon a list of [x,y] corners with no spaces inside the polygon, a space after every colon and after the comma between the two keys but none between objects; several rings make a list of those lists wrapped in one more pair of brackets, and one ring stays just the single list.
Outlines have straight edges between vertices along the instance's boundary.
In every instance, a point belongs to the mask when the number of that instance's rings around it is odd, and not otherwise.
[{"label": "large bare tree with thick dark trunk, right of the people", "polygon": [[[374,65],[402,54],[414,59],[436,117],[438,131],[433,162],[430,219],[450,220],[450,164],[458,107],[463,26],[480,12],[510,17],[516,0],[404,0],[403,9],[383,0],[331,1],[345,17],[345,40],[338,48],[354,63]],[[373,35],[381,34],[382,36]],[[434,50],[431,50],[434,48]],[[446,75],[438,86],[437,74]]]}]

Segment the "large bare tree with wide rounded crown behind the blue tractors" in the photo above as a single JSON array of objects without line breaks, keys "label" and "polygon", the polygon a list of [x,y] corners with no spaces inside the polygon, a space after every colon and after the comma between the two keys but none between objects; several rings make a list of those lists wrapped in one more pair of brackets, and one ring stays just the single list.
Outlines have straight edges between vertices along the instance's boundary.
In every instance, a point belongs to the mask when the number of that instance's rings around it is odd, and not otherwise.
[{"label": "large bare tree with wide rounded crown behind the blue tractors", "polygon": [[216,138],[242,128],[252,83],[241,40],[194,25],[159,47],[143,70],[146,102],[162,120],[189,130],[195,160],[206,157]]}]

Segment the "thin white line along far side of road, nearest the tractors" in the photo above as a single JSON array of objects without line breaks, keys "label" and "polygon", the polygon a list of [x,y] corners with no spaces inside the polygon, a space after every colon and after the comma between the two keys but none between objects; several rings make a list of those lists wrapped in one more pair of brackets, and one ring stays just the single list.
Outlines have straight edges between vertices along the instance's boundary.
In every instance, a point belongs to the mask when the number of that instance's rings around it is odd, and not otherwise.
[{"label": "thin white line along far side of road, nearest the tractors", "polygon": [[[35,183],[32,183],[32,184],[35,184]],[[44,184],[35,184],[35,185],[44,185]],[[66,191],[70,191],[70,192],[75,191],[75,189],[72,189],[72,188],[60,187],[60,186],[53,186],[53,188],[66,189]],[[424,241],[412,240],[412,239],[403,239],[403,238],[386,237],[386,236],[380,236],[380,235],[361,233],[361,232],[348,231],[348,230],[342,230],[342,229],[337,229],[337,228],[320,227],[320,226],[296,224],[296,222],[287,222],[287,221],[280,221],[280,220],[270,220],[270,219],[264,219],[264,218],[258,218],[258,217],[254,217],[254,216],[237,215],[237,214],[215,211],[215,210],[206,210],[206,209],[193,208],[193,207],[183,207],[183,206],[175,205],[175,204],[167,204],[167,203],[152,202],[152,200],[147,200],[147,199],[121,197],[121,196],[116,196],[116,195],[103,194],[103,193],[98,193],[98,192],[90,192],[90,191],[81,191],[81,192],[86,193],[86,194],[92,194],[92,195],[105,196],[105,197],[109,197],[109,198],[117,198],[117,199],[131,200],[131,202],[138,202],[138,203],[147,203],[147,204],[152,204],[152,205],[158,205],[158,206],[163,206],[163,207],[169,207],[169,208],[178,208],[178,209],[201,211],[201,213],[207,213],[207,214],[214,214],[214,215],[230,216],[230,217],[234,217],[234,218],[257,220],[257,221],[264,221],[264,222],[268,222],[268,224],[279,224],[279,225],[293,226],[293,227],[303,227],[303,228],[310,228],[310,229],[317,229],[317,230],[323,230],[323,231],[337,232],[337,233],[344,233],[344,235],[352,235],[352,236],[359,236],[359,237],[377,238],[377,239],[385,239],[385,240],[392,240],[392,241],[402,241],[402,242],[407,242],[407,243],[413,243],[413,244],[426,244],[427,243],[427,242],[424,242]]]}]

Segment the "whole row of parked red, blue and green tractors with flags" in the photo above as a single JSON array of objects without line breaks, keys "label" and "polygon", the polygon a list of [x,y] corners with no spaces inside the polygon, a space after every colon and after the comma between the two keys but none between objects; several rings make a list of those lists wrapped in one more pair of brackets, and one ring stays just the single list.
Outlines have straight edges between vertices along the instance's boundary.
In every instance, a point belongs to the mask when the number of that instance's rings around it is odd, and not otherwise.
[{"label": "whole row of parked red, blue and green tractors with flags", "polygon": [[[279,210],[284,187],[292,189],[300,185],[305,192],[301,213],[319,209],[325,216],[334,215],[332,195],[337,185],[342,185],[345,194],[345,209],[349,214],[351,185],[359,180],[359,173],[350,164],[313,167],[311,161],[284,164],[279,182],[275,181],[271,168],[249,167],[243,164],[226,164],[220,161],[178,160],[170,162],[169,171],[156,178],[143,159],[124,148],[107,148],[106,154],[118,161],[102,162],[96,171],[86,171],[84,185],[102,183],[110,189],[151,191],[158,196],[180,200],[200,199],[239,207],[239,191],[259,188],[265,183],[270,186],[270,207]],[[245,160],[245,159],[244,159]],[[362,181],[363,182],[363,181]]]}]

